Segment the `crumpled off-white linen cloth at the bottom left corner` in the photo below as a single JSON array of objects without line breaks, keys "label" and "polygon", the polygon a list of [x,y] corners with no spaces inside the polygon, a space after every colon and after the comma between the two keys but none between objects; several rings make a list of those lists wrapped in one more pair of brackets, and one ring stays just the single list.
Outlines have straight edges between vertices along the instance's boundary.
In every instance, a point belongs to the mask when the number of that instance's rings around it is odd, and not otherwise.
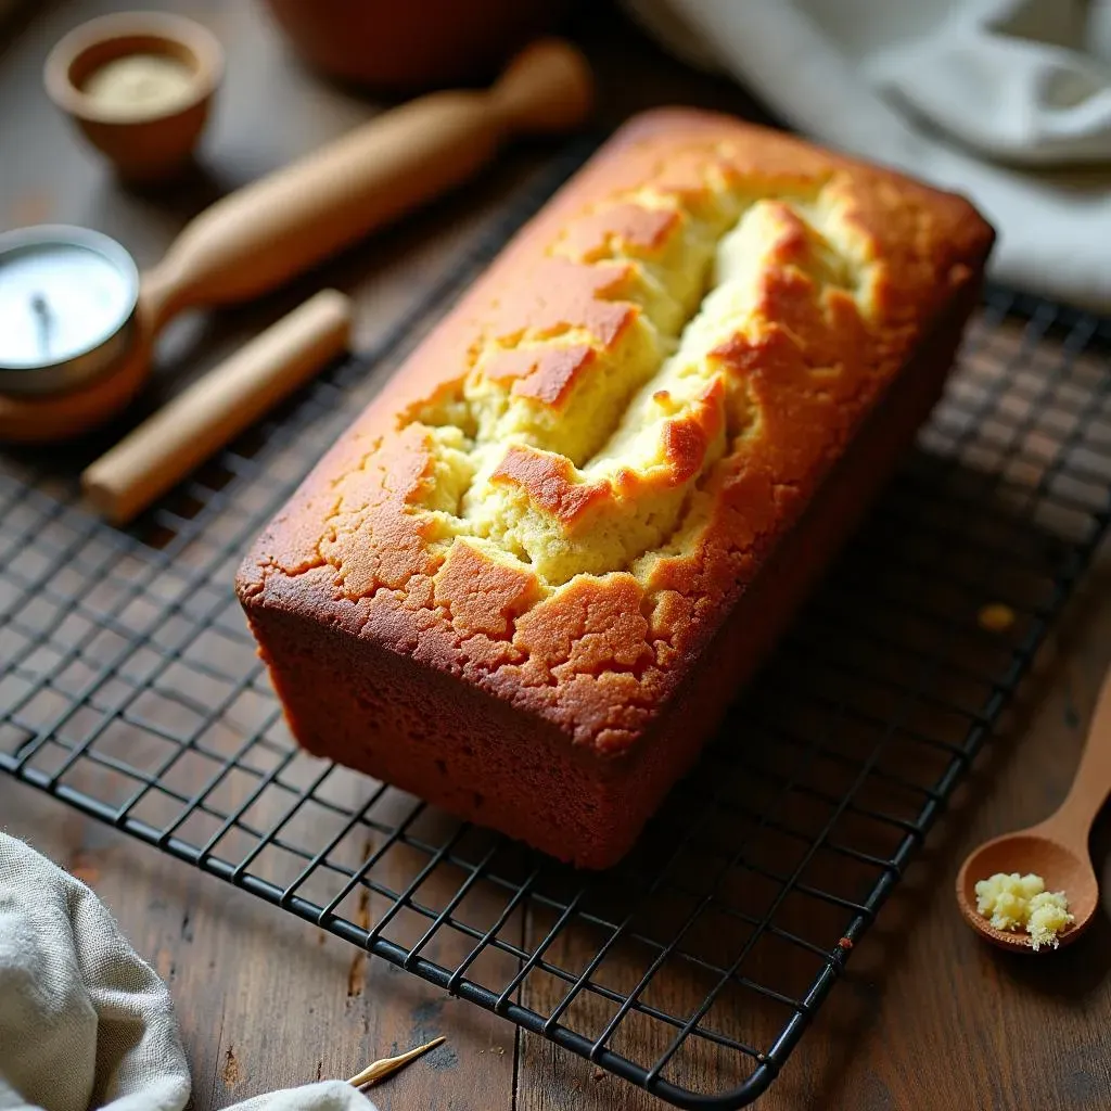
[{"label": "crumpled off-white linen cloth at the bottom left corner", "polygon": [[[182,1111],[170,993],[79,880],[0,832],[0,1111]],[[374,1111],[327,1080],[236,1111]]]}]

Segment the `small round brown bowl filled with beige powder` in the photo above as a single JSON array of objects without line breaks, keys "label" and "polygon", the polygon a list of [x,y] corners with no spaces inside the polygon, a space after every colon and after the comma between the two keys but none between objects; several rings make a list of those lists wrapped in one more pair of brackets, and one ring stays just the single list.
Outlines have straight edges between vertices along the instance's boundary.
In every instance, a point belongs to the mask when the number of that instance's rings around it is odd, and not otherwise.
[{"label": "small round brown bowl filled with beige powder", "polygon": [[190,161],[222,76],[223,50],[209,30],[158,12],[82,23],[43,73],[54,103],[137,183],[163,181]]}]

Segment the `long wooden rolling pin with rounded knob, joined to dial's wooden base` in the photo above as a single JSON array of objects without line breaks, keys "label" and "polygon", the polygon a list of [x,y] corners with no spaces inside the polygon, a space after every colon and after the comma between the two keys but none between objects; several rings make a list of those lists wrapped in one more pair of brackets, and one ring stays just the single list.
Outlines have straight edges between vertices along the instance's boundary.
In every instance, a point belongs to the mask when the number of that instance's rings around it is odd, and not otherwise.
[{"label": "long wooden rolling pin with rounded knob, joined to dial's wooden base", "polygon": [[577,126],[591,98],[582,54],[542,40],[490,89],[421,97],[230,193],[143,273],[136,337],[119,364],[66,393],[0,394],[0,439],[58,440],[107,420],[142,386],[158,332],[177,312],[268,292],[473,177],[512,136]]}]

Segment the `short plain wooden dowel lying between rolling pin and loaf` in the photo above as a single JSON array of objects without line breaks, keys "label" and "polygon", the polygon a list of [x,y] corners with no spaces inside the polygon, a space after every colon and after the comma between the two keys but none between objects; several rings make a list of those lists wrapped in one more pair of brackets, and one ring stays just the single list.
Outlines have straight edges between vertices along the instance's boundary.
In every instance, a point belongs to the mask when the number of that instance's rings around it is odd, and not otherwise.
[{"label": "short plain wooden dowel lying between rolling pin and loaf", "polygon": [[81,488],[126,524],[344,351],[351,302],[326,289],[193,382],[86,468]]}]

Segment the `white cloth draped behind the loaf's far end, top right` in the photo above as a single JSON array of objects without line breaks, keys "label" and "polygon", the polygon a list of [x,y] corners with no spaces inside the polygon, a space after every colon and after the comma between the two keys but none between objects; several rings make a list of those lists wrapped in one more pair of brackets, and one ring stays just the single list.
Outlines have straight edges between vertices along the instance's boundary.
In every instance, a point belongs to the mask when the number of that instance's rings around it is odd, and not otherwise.
[{"label": "white cloth draped behind the loaf's far end, top right", "polygon": [[787,123],[964,193],[993,277],[1111,311],[1111,0],[623,0]]}]

